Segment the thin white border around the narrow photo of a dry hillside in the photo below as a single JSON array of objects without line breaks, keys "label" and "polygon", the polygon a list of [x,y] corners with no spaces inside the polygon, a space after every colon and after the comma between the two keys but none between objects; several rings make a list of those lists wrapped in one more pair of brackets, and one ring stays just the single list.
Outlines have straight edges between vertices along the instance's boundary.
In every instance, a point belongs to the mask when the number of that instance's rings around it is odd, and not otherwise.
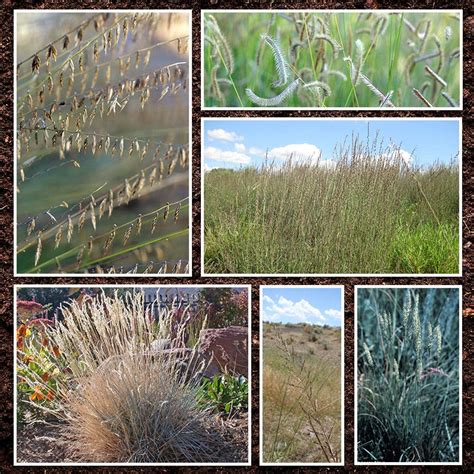
[{"label": "thin white border around the narrow photo of a dry hillside", "polygon": [[[341,461],[335,463],[325,463],[325,462],[264,462],[263,460],[263,304],[262,298],[264,295],[265,288],[313,288],[313,289],[338,289],[341,292]],[[344,312],[344,285],[260,285],[259,288],[259,466],[299,466],[299,467],[308,467],[308,466],[344,466],[345,462],[345,351],[344,351],[344,339],[345,339],[345,312]]]}]

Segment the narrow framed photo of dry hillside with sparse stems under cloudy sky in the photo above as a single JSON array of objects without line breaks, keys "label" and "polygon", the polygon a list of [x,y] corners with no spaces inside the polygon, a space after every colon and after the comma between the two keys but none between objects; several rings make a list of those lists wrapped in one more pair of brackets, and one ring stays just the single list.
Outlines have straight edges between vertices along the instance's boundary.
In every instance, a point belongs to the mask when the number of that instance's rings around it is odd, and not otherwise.
[{"label": "narrow framed photo of dry hillside with sparse stems under cloudy sky", "polygon": [[260,464],[344,465],[343,286],[260,286]]}]

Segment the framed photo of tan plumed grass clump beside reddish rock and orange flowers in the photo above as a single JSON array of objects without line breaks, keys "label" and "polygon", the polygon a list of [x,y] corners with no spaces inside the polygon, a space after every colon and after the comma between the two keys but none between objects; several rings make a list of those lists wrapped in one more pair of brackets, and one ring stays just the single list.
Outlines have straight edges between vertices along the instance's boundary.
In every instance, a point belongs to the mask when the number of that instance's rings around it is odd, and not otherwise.
[{"label": "framed photo of tan plumed grass clump beside reddish rock and orange flowers", "polygon": [[249,285],[16,285],[14,464],[250,465]]}]

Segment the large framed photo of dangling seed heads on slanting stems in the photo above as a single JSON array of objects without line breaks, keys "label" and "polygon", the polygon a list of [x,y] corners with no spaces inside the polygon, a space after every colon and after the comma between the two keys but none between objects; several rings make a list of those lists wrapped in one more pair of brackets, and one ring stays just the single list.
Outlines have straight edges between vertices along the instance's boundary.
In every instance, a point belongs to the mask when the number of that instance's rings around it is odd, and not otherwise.
[{"label": "large framed photo of dangling seed heads on slanting stems", "polygon": [[191,275],[189,10],[15,11],[15,274]]}]

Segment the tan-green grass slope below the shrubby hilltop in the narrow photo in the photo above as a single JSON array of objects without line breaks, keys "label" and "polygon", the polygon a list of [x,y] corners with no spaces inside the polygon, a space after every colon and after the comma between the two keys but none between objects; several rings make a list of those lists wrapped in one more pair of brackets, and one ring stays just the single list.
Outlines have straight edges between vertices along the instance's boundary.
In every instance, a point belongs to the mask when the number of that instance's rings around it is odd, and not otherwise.
[{"label": "tan-green grass slope below the shrubby hilltop in the narrow photo", "polygon": [[263,460],[339,462],[340,361],[283,334],[265,325]]}]

